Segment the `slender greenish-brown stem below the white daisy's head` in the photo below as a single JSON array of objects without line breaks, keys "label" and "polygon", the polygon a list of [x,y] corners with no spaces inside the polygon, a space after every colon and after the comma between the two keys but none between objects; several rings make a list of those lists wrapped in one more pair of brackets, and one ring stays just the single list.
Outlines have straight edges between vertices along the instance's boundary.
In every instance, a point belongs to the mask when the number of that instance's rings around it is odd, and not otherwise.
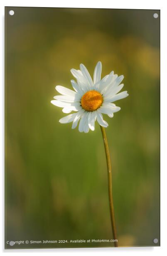
[{"label": "slender greenish-brown stem below the white daisy's head", "polygon": [[114,217],[114,206],[113,206],[113,190],[112,190],[112,173],[111,173],[111,158],[110,152],[108,148],[108,141],[106,136],[106,131],[103,126],[100,126],[101,133],[103,136],[104,148],[106,152],[106,160],[107,160],[107,169],[108,169],[108,195],[109,195],[109,203],[110,203],[110,216],[111,216],[111,226],[113,231],[113,238],[116,240],[114,242],[115,247],[118,247],[117,233],[116,233],[116,225],[115,225],[115,217]]}]

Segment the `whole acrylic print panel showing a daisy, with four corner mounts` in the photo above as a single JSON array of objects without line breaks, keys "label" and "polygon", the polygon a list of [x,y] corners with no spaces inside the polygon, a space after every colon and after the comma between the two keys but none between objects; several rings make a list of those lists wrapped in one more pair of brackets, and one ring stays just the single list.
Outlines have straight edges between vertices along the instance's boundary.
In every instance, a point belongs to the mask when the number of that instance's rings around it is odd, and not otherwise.
[{"label": "whole acrylic print panel showing a daisy, with four corner mounts", "polygon": [[5,7],[5,131],[6,249],[160,246],[160,11]]}]

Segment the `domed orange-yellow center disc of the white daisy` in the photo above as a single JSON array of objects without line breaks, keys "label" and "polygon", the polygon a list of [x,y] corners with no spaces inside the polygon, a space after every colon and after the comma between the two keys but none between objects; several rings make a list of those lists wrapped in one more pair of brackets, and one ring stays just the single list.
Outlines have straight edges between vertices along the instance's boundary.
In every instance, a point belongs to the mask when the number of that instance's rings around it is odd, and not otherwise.
[{"label": "domed orange-yellow center disc of the white daisy", "polygon": [[81,98],[81,106],[86,111],[95,111],[103,103],[103,96],[98,91],[87,91]]}]

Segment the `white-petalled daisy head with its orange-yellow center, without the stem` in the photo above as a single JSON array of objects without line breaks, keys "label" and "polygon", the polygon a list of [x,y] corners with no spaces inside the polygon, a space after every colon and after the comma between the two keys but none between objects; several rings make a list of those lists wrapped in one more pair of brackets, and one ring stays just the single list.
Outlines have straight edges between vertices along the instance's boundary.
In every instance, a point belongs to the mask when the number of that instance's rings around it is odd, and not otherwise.
[{"label": "white-petalled daisy head with its orange-yellow center, without the stem", "polygon": [[101,79],[102,64],[98,62],[93,74],[93,80],[83,64],[80,70],[71,69],[76,81],[71,80],[74,91],[64,87],[56,86],[56,91],[61,95],[54,96],[51,103],[63,108],[64,113],[71,113],[59,120],[60,123],[71,123],[72,129],[79,123],[79,131],[88,133],[89,129],[95,130],[95,121],[100,126],[107,127],[108,123],[103,120],[103,114],[113,117],[120,107],[113,102],[128,96],[127,91],[118,93],[123,84],[120,84],[124,76],[118,76],[112,71]]}]

